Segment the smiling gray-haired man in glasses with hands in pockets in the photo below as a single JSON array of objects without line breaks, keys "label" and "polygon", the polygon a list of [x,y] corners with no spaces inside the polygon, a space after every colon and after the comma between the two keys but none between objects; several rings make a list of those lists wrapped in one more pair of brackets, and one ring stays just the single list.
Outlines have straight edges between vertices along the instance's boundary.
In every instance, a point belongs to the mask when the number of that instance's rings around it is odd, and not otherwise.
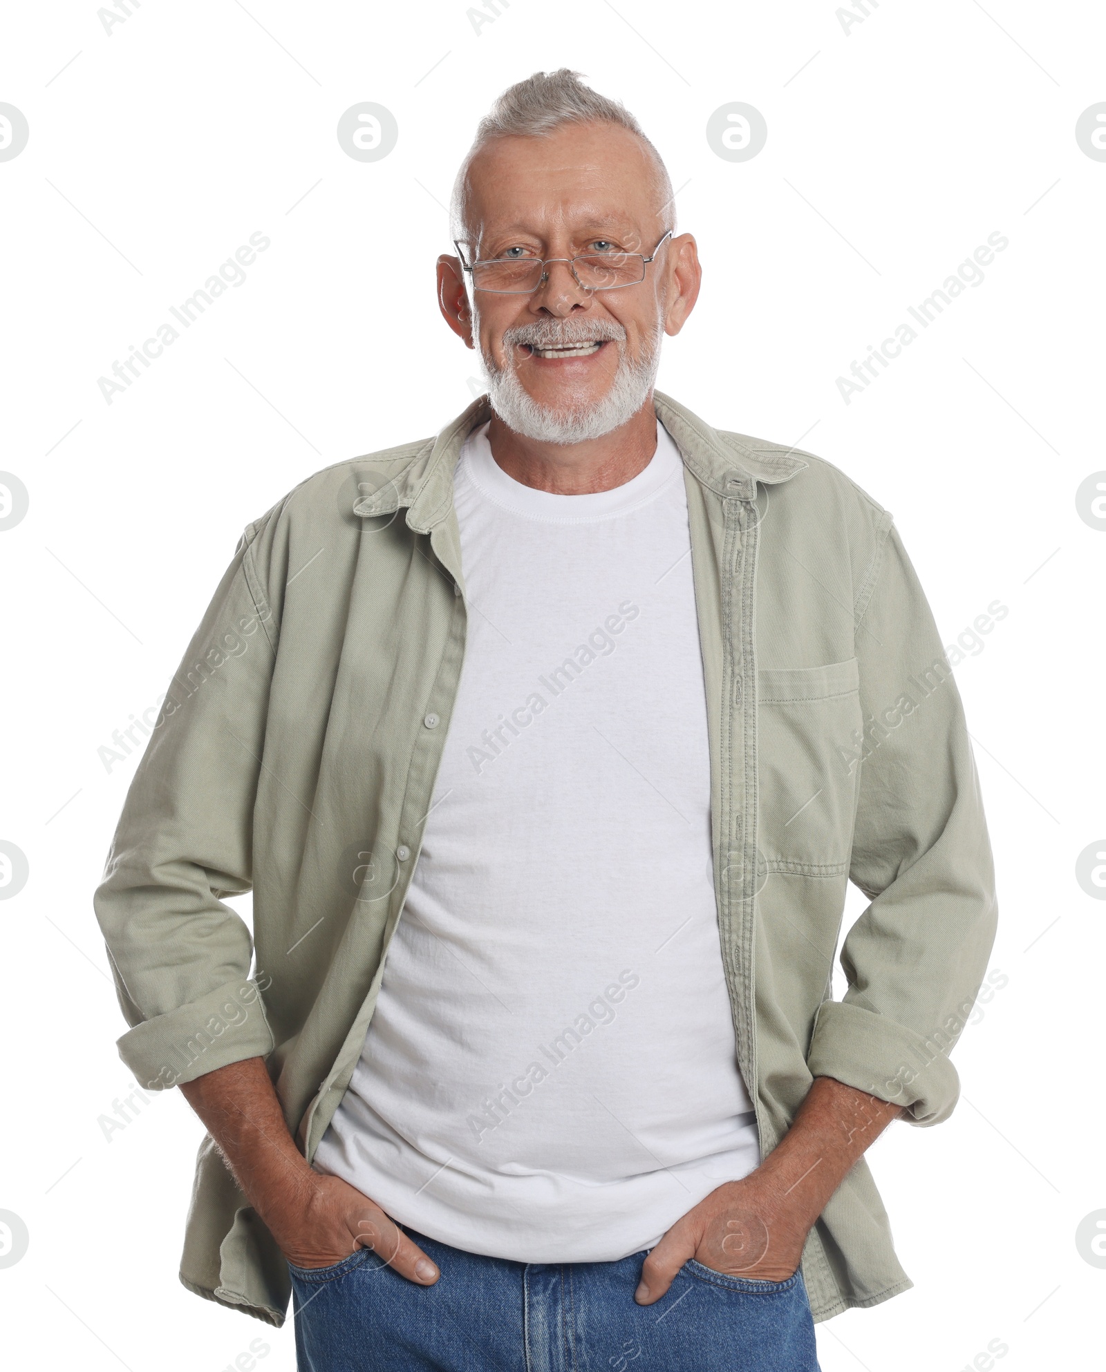
[{"label": "smiling gray-haired man in glasses with hands in pockets", "polygon": [[576,73],[501,96],[438,262],[489,394],[247,527],[97,892],[207,1126],[181,1280],[310,1372],[805,1372],[910,1286],[862,1154],[956,1100],[978,782],[891,514],[655,392],[672,199]]}]

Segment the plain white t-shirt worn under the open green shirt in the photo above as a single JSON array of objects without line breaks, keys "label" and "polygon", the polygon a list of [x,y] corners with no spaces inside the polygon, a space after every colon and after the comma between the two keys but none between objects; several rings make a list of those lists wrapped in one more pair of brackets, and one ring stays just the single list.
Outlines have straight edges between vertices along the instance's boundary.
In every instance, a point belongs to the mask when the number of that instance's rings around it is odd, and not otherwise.
[{"label": "plain white t-shirt worn under the open green shirt", "polygon": [[652,1247],[760,1161],[711,862],[683,464],[454,480],[468,641],[423,851],[316,1166],[519,1262]]}]

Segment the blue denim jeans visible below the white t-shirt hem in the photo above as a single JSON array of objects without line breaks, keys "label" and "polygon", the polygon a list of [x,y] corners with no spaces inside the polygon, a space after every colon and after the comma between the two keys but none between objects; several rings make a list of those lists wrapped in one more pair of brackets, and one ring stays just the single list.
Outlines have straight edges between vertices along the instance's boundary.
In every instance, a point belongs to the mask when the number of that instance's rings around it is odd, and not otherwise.
[{"label": "blue denim jeans visible below the white t-shirt hem", "polygon": [[432,1287],[369,1249],[295,1268],[299,1372],[818,1372],[807,1291],[690,1261],[655,1305],[634,1302],[645,1253],[620,1262],[508,1262],[409,1229]]}]

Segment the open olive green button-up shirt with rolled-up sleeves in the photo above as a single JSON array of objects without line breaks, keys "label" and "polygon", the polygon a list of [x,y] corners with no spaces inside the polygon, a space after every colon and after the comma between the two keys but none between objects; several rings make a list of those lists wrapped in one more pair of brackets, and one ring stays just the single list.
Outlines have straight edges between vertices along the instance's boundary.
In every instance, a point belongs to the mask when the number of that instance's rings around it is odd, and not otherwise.
[{"label": "open olive green button-up shirt with rolled-up sleeves", "polygon": [[[995,893],[933,616],[892,516],[834,466],[655,403],[685,464],[718,930],[762,1154],[815,1076],[937,1124]],[[96,893],[139,1083],[263,1056],[309,1159],[419,860],[469,613],[453,471],[489,413],[482,397],[436,438],[327,468],[248,525]],[[849,879],[870,904],[834,1000]],[[252,940],[224,903],[250,889]],[[814,1225],[803,1276],[816,1320],[911,1284],[863,1161]],[[181,1280],[284,1320],[285,1261],[210,1139]]]}]

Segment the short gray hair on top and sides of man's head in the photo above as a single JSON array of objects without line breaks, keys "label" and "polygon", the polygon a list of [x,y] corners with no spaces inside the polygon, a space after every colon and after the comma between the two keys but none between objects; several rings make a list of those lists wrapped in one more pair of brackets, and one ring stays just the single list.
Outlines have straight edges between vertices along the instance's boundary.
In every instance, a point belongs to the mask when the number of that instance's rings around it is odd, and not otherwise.
[{"label": "short gray hair on top and sides of man's head", "polygon": [[509,86],[480,119],[476,139],[461,163],[453,182],[450,200],[450,232],[464,241],[468,224],[468,169],[472,159],[493,139],[548,137],[567,123],[617,123],[641,139],[657,174],[661,204],[657,214],[666,229],[675,233],[676,213],[672,181],[660,154],[645,137],[638,121],[619,100],[611,100],[580,81],[579,71],[561,67],[558,71],[535,71],[526,81]]}]

